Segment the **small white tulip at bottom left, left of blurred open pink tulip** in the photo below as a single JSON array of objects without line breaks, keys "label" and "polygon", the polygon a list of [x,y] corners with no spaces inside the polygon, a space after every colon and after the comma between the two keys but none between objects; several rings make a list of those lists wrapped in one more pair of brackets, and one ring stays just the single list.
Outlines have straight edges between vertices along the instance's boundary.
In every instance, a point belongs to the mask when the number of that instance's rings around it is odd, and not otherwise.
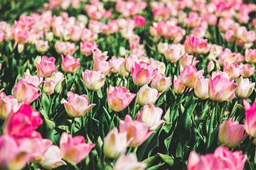
[{"label": "small white tulip at bottom left, left of blurred open pink tulip", "polygon": [[62,160],[60,148],[52,145],[48,147],[45,154],[43,154],[43,159],[40,164],[46,169],[55,169],[58,166],[65,165],[66,163]]}]

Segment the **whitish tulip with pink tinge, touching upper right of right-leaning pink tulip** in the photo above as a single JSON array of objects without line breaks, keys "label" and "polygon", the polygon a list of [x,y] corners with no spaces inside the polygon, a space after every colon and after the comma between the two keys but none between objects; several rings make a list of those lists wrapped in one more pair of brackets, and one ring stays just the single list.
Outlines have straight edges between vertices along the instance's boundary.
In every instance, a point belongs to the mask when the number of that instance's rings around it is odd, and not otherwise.
[{"label": "whitish tulip with pink tinge, touching upper right of right-leaning pink tulip", "polygon": [[143,106],[142,113],[138,113],[138,120],[146,123],[149,126],[149,130],[156,130],[164,120],[161,120],[161,115],[163,110],[161,108],[155,107],[153,104],[148,104]]}]

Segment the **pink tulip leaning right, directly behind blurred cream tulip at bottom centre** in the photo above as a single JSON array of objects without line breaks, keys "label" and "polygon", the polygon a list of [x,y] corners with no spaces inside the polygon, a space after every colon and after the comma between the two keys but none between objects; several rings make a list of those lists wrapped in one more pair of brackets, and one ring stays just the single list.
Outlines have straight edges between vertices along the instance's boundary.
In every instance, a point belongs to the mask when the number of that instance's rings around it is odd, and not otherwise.
[{"label": "pink tulip leaning right, directly behind blurred cream tulip at bottom centre", "polygon": [[127,132],[127,140],[131,140],[129,147],[138,147],[154,132],[149,130],[146,123],[132,120],[130,115],[126,115],[124,120],[120,120],[119,131]]}]

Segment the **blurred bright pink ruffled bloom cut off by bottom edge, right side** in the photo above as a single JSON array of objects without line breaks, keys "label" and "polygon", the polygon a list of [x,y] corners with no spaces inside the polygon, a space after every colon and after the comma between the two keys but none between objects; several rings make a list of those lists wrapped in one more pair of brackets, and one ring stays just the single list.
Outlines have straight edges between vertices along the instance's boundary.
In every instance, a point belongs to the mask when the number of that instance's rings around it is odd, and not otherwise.
[{"label": "blurred bright pink ruffled bloom cut off by bottom edge, right side", "polygon": [[188,157],[188,170],[242,170],[246,159],[247,156],[241,151],[230,152],[227,147],[218,147],[214,154],[202,156],[192,151]]}]

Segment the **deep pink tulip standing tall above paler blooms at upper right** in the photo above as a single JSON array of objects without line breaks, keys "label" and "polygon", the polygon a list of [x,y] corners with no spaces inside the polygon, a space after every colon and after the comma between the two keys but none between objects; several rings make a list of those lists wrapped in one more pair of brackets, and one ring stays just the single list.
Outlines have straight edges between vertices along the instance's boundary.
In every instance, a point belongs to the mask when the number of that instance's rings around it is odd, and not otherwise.
[{"label": "deep pink tulip standing tall above paler blooms at upper right", "polygon": [[189,35],[184,42],[188,54],[206,54],[208,52],[208,40],[203,40],[195,35]]}]

